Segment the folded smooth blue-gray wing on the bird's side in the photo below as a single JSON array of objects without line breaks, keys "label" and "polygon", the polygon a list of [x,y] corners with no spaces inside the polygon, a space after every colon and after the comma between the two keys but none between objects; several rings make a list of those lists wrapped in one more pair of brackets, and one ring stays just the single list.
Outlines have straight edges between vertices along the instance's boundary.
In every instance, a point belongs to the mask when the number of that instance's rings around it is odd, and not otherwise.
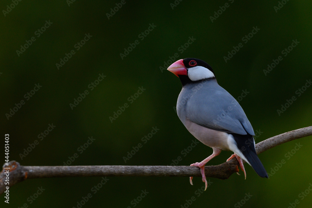
[{"label": "folded smooth blue-gray wing on the bird's side", "polygon": [[186,117],[198,125],[223,131],[255,135],[236,99],[218,84],[193,92],[185,105]]}]

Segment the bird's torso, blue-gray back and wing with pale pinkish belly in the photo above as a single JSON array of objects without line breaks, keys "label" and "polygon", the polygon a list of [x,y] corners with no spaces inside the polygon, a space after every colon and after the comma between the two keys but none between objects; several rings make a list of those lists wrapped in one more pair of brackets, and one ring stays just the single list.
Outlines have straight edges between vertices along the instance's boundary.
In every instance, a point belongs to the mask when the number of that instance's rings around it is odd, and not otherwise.
[{"label": "bird's torso, blue-gray back and wing with pale pinkish belly", "polygon": [[241,106],[215,79],[183,86],[177,113],[188,131],[210,147],[228,149],[228,133],[254,135]]}]

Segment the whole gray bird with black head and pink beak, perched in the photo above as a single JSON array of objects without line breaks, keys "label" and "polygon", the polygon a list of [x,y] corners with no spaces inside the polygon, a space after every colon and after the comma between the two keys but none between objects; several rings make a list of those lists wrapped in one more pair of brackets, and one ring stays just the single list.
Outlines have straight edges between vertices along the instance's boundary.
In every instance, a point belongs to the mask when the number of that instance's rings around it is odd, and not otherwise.
[{"label": "whole gray bird with black head and pink beak, perched", "polygon": [[[246,172],[244,159],[260,177],[268,178],[256,154],[255,135],[246,114],[235,98],[218,85],[212,67],[197,58],[180,59],[168,67],[180,78],[182,90],[178,97],[178,117],[203,144],[212,148],[213,153],[200,163],[191,164],[200,168],[202,181],[207,188],[205,164],[219,155],[221,150],[231,150],[241,170]],[[190,177],[192,183],[193,177]]]}]

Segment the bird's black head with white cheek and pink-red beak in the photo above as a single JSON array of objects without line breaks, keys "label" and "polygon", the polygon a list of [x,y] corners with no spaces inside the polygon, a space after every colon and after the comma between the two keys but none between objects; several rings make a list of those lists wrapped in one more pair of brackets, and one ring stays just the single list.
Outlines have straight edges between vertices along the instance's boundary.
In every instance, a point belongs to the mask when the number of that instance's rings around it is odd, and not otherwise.
[{"label": "bird's black head with white cheek and pink-red beak", "polygon": [[197,58],[180,59],[171,64],[168,67],[168,71],[178,76],[182,85],[205,79],[215,79],[212,67]]}]

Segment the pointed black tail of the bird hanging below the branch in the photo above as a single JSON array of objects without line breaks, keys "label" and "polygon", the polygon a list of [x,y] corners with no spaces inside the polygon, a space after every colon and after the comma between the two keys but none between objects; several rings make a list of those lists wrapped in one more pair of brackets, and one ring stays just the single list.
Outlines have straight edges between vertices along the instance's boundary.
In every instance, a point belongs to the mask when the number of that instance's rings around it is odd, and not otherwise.
[{"label": "pointed black tail of the bird hanging below the branch", "polygon": [[253,136],[250,134],[232,135],[234,136],[234,140],[237,143],[238,149],[241,150],[241,153],[246,157],[248,163],[250,163],[251,167],[256,171],[256,173],[262,178],[268,178],[269,176],[266,173],[266,169],[263,167],[260,159],[257,156]]}]

